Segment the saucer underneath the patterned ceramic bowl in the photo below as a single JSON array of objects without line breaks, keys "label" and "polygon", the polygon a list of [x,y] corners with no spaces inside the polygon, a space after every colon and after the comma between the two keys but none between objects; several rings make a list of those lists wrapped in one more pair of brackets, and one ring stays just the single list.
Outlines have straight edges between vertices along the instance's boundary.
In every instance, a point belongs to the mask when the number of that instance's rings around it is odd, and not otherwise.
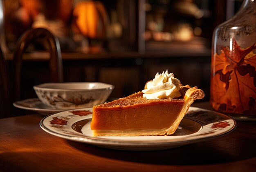
[{"label": "saucer underneath the patterned ceramic bowl", "polygon": [[25,99],[21,101],[16,101],[13,106],[25,110],[33,110],[41,115],[50,115],[53,113],[64,111],[65,109],[54,109],[43,104],[38,98]]}]

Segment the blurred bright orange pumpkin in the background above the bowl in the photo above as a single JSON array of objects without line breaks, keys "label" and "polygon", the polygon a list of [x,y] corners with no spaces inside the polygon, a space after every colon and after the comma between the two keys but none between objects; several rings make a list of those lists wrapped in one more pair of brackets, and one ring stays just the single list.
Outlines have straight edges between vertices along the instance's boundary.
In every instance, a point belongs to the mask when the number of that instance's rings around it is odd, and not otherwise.
[{"label": "blurred bright orange pumpkin in the background above the bowl", "polygon": [[83,1],[76,4],[73,11],[73,30],[90,39],[106,37],[109,24],[107,11],[99,1]]}]

